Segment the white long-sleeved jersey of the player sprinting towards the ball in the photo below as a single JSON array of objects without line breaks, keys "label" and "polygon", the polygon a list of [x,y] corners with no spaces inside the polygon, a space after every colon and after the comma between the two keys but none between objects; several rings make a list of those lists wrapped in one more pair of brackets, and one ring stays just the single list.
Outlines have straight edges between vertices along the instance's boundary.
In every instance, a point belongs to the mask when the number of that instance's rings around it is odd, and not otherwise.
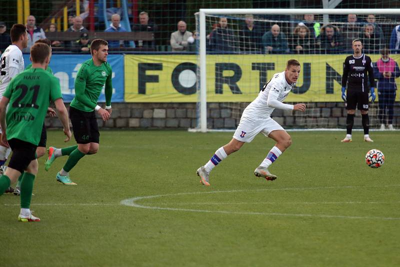
[{"label": "white long-sleeved jersey of the player sprinting towards the ball", "polygon": [[294,84],[287,83],[284,71],[273,74],[258,96],[244,109],[242,117],[269,117],[275,108],[267,105],[268,95],[273,94],[276,96],[276,100],[283,102]]}]

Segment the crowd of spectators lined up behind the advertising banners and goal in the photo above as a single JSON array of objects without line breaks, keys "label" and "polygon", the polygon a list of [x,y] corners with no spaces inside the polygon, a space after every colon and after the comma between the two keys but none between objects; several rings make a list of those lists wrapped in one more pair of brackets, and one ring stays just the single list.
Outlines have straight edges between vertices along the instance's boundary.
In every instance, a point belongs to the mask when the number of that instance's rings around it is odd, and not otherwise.
[{"label": "crowd of spectators lined up behind the advertising banners and goal", "polygon": [[[104,32],[128,31],[120,23],[120,14],[113,13],[110,15],[110,20],[111,23],[105,26]],[[212,53],[334,54],[351,52],[351,42],[358,38],[362,41],[363,51],[366,54],[377,54],[383,48],[390,49],[391,53],[400,51],[400,25],[396,25],[392,29],[390,36],[385,36],[382,27],[376,22],[375,15],[368,14],[362,21],[360,20],[356,14],[348,14],[347,22],[321,24],[314,20],[314,15],[304,14],[298,21],[269,21],[269,25],[267,25],[267,23],[262,23],[262,19],[255,21],[251,14],[240,19],[243,21],[242,24],[221,16],[217,18],[216,23],[212,24],[211,30],[206,35],[206,47],[207,51]],[[157,50],[158,26],[151,22],[145,11],[139,13],[138,21],[137,24],[131,24],[132,32],[150,32],[154,36],[151,40],[109,39],[108,47],[115,50],[120,48]],[[167,50],[196,51],[198,32],[187,30],[184,20],[179,20],[176,25],[176,31],[170,33],[169,49]],[[24,48],[23,52],[28,52],[36,40],[45,38],[46,32],[57,31],[57,25],[54,23],[49,24],[43,30],[36,25],[33,15],[27,17],[26,28],[28,46]],[[0,21],[0,53],[10,44],[6,29],[6,23]],[[82,16],[69,14],[66,32],[82,34],[76,40],[51,39],[51,45],[57,47],[58,50],[76,53],[88,52],[87,43],[90,43],[90,32],[84,26]],[[387,43],[386,40],[388,40]]]}]

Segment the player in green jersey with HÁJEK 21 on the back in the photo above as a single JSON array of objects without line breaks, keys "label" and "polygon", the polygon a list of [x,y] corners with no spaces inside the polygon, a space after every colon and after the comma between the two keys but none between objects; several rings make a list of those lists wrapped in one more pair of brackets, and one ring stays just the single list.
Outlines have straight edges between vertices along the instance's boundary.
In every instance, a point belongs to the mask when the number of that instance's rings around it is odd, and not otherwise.
[{"label": "player in green jersey with H\u00c1JEK 21 on the back", "polygon": [[37,174],[35,151],[50,100],[54,101],[59,112],[67,136],[65,141],[71,136],[58,79],[45,71],[50,60],[50,47],[35,43],[30,49],[30,57],[32,68],[22,71],[10,81],[0,101],[1,143],[12,149],[8,167],[0,177],[0,194],[23,173],[20,221],[40,220],[31,214],[29,207],[33,180]]}]

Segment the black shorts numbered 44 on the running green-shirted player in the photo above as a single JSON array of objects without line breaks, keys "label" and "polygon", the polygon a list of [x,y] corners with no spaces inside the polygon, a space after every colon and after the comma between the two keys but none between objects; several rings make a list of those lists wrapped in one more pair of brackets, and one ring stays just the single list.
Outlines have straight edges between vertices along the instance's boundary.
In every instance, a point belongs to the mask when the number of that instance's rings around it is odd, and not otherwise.
[{"label": "black shorts numbered 44 on the running green-shirted player", "polygon": [[69,118],[76,143],[98,143],[100,133],[95,111],[85,112],[70,106]]}]

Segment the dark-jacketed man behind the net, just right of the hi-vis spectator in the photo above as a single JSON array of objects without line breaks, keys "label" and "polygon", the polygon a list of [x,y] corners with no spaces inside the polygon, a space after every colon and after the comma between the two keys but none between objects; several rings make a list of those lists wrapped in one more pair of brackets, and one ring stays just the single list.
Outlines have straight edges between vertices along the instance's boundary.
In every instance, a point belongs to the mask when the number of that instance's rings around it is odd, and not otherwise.
[{"label": "dark-jacketed man behind the net, just right of the hi-vis spectator", "polygon": [[342,41],[339,29],[336,26],[327,24],[321,27],[317,43],[322,53],[333,54],[342,52]]}]

